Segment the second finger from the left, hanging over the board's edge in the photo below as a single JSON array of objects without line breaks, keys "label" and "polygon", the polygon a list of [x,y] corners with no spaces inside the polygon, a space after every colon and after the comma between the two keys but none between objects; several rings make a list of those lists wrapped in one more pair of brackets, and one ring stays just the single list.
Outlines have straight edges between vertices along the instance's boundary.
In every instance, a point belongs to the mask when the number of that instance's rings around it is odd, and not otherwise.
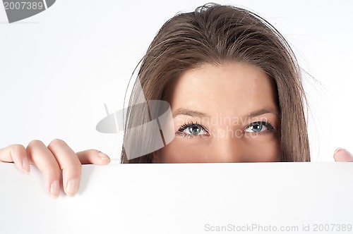
[{"label": "second finger from the left, hanging over the board's edge", "polygon": [[32,140],[27,152],[32,163],[42,171],[49,195],[59,197],[61,170],[55,156],[40,140]]}]

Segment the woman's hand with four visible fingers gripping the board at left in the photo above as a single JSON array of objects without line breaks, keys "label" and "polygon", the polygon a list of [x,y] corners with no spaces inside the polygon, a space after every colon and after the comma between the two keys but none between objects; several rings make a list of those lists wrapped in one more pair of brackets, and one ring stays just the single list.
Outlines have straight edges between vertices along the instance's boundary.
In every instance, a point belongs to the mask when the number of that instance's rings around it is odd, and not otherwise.
[{"label": "woman's hand with four visible fingers gripping the board at left", "polygon": [[52,140],[46,147],[40,140],[32,140],[28,147],[12,144],[0,149],[0,162],[13,162],[20,171],[30,173],[30,164],[42,171],[47,192],[59,197],[60,181],[68,196],[76,195],[80,185],[81,164],[109,164],[106,154],[95,149],[75,153],[63,140]]}]

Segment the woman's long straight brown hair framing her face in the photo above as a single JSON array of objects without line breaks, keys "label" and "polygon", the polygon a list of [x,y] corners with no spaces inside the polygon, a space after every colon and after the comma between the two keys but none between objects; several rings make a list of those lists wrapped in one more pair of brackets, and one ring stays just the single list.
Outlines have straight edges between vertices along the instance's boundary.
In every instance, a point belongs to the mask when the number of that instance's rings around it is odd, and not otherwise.
[{"label": "woman's long straight brown hair framing her face", "polygon": [[[250,63],[275,82],[280,110],[282,161],[310,161],[301,73],[288,42],[275,27],[255,13],[234,6],[206,4],[168,20],[153,39],[133,87],[125,131],[149,121],[148,108],[136,107],[138,87],[146,100],[161,100],[164,89],[181,73],[205,63]],[[132,108],[131,106],[134,106]],[[128,159],[127,148],[151,144],[148,129],[124,135],[121,163],[150,163],[151,154]]]}]

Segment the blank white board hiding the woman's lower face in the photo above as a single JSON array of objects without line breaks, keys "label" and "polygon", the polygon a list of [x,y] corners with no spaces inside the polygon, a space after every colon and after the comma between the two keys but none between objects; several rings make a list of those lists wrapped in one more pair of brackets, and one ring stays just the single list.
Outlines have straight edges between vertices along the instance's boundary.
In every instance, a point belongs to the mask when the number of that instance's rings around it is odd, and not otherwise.
[{"label": "blank white board hiding the woman's lower face", "polygon": [[0,164],[0,190],[0,233],[353,233],[349,163],[90,165],[58,199]]}]

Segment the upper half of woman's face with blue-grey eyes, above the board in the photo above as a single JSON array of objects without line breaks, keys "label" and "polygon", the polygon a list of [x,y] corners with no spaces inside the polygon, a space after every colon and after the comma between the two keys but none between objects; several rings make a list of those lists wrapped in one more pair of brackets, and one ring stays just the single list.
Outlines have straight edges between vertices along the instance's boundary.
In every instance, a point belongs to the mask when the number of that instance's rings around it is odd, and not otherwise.
[{"label": "upper half of woman's face with blue-grey eyes, above the board", "polygon": [[175,138],[155,163],[280,161],[275,87],[246,63],[187,70],[164,92]]}]

